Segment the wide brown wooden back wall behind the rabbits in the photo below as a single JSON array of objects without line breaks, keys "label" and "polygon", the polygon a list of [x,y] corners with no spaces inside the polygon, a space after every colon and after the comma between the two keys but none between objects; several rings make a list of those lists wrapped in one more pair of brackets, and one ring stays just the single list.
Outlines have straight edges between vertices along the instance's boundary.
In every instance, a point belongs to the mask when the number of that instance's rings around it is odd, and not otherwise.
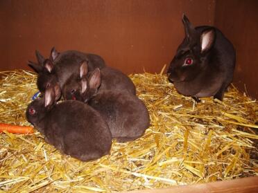
[{"label": "wide brown wooden back wall behind the rabbits", "polygon": [[211,25],[214,10],[212,0],[0,1],[0,70],[28,69],[35,49],[48,56],[55,46],[96,53],[124,73],[160,72],[184,36],[182,13]]}]

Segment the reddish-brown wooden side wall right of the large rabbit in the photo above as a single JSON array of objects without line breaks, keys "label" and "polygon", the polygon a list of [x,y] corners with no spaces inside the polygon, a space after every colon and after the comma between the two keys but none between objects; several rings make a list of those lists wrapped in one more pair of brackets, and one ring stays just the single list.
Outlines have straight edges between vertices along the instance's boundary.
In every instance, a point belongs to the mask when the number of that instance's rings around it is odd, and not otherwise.
[{"label": "reddish-brown wooden side wall right of the large rabbit", "polygon": [[[258,1],[217,0],[215,25],[236,48],[234,84],[258,98]],[[245,88],[246,85],[246,88]]]}]

